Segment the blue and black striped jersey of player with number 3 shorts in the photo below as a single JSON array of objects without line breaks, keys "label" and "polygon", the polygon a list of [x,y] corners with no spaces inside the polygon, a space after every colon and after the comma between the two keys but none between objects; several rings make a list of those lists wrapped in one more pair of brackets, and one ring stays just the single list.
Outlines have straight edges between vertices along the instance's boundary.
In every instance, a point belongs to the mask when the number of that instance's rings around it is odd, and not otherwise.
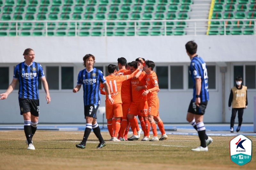
[{"label": "blue and black striped jersey of player with number 3 shorts", "polygon": [[77,85],[83,85],[84,106],[100,104],[100,82],[106,83],[106,78],[99,69],[93,68],[90,72],[84,69],[79,72]]}]

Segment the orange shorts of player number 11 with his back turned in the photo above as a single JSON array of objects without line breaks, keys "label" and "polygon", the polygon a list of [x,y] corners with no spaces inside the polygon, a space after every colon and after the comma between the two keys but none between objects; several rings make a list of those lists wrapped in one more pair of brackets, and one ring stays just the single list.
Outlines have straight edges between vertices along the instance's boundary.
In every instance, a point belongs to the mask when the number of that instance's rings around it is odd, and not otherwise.
[{"label": "orange shorts of player number 11 with his back turned", "polygon": [[106,119],[112,119],[113,117],[123,117],[121,103],[106,106]]}]

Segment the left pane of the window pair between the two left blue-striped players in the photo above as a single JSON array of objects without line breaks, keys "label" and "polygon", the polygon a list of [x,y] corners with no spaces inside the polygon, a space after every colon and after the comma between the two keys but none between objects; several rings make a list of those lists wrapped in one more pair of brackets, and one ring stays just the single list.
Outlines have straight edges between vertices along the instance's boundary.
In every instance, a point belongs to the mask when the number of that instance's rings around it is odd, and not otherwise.
[{"label": "left pane of the window pair between the two left blue-striped players", "polygon": [[49,86],[49,90],[59,90],[59,67],[47,66],[46,79]]}]

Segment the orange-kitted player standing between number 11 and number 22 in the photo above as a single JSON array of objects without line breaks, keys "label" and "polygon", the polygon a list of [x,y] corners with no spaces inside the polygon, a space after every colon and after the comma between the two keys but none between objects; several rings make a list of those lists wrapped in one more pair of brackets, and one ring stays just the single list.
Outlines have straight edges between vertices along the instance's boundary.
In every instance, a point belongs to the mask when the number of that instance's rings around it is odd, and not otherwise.
[{"label": "orange-kitted player standing between number 11 and number 22", "polygon": [[[124,57],[120,57],[117,59],[117,66],[119,68],[119,71],[116,72],[116,75],[130,75],[132,74],[132,72],[126,69],[126,62],[127,60]],[[129,65],[128,65],[129,66]],[[143,67],[140,67],[141,69],[143,69]],[[136,74],[135,78],[138,78],[139,75]],[[131,104],[131,96],[132,96],[132,87],[131,87],[131,79],[124,81],[122,83],[122,88],[121,88],[121,98],[122,98],[122,110],[123,110],[123,117],[122,117],[122,122],[121,122],[121,128],[120,128],[120,140],[125,140],[127,141],[127,133],[129,131],[130,125],[129,125],[129,121],[127,121],[127,113]],[[136,119],[136,118],[135,118]],[[138,135],[140,136],[140,132],[142,131],[139,128],[138,125],[138,121],[137,119],[135,120],[136,123],[136,130],[138,131]],[[127,130],[127,131],[126,131]],[[124,133],[126,132],[126,133]]]}]

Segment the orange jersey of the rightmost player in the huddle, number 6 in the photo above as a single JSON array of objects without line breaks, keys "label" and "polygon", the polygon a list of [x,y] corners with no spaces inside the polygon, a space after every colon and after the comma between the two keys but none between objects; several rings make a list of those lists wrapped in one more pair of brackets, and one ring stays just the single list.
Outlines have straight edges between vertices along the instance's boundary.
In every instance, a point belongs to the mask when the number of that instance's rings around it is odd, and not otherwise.
[{"label": "orange jersey of the rightmost player in the huddle, number 6", "polygon": [[147,81],[147,84],[146,84],[147,85],[147,90],[149,91],[149,93],[147,95],[147,99],[152,100],[152,99],[158,98],[156,90],[159,89],[159,86],[158,86],[158,79],[157,79],[157,76],[156,76],[156,72],[153,71],[151,74],[149,74],[147,76],[146,81]]}]

